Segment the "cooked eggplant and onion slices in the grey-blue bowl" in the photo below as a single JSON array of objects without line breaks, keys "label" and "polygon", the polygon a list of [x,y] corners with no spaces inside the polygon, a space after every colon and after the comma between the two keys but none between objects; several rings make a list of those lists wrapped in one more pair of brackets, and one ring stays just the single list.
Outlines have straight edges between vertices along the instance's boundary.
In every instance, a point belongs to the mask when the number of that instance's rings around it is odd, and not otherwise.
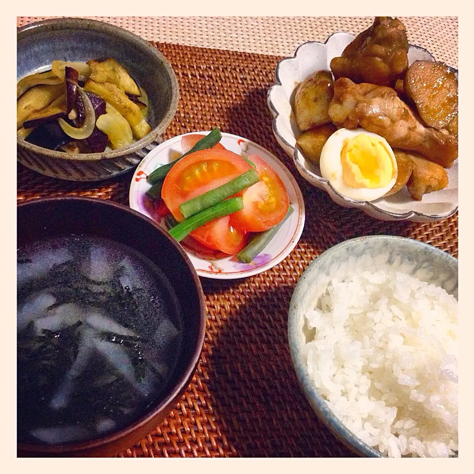
[{"label": "cooked eggplant and onion slices in the grey-blue bowl", "polygon": [[17,135],[50,150],[101,153],[146,136],[148,98],[113,58],[53,61],[17,84]]}]

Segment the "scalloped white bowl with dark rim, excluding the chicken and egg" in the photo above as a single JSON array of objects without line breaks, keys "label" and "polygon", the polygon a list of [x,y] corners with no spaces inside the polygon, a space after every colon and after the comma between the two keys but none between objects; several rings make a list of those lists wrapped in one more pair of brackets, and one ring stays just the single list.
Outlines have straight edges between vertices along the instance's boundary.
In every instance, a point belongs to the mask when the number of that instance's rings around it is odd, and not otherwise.
[{"label": "scalloped white bowl with dark rim, excluding the chicken and egg", "polygon": [[[351,199],[338,193],[326,179],[321,177],[319,167],[305,159],[297,147],[296,138],[300,131],[292,115],[297,86],[315,71],[321,69],[330,71],[331,59],[340,56],[354,38],[354,35],[349,33],[338,32],[324,43],[308,41],[298,47],[293,57],[278,63],[276,84],[269,89],[267,95],[268,107],[274,117],[273,132],[276,140],[288,156],[293,158],[303,178],[316,188],[326,191],[332,200],[341,206],[355,207],[376,219],[385,221],[432,222],[452,216],[458,209],[458,160],[447,170],[448,186],[441,191],[425,195],[421,201],[413,200],[404,187],[393,196],[369,202]],[[429,51],[410,44],[409,64],[418,59],[435,61]]]}]

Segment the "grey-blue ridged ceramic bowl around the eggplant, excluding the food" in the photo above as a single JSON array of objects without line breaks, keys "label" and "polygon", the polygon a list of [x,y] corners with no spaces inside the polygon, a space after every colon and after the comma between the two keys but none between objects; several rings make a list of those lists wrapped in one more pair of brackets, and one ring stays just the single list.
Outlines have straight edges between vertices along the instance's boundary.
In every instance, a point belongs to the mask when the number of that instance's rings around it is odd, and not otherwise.
[{"label": "grey-blue ridged ceramic bowl around the eggplant, excluding the food", "polygon": [[42,174],[73,181],[111,178],[136,166],[160,143],[179,99],[176,75],[157,48],[142,38],[102,21],[56,18],[18,29],[17,80],[49,69],[56,59],[88,61],[113,57],[147,92],[152,131],[135,143],[103,153],[73,155],[17,140],[18,160]]}]

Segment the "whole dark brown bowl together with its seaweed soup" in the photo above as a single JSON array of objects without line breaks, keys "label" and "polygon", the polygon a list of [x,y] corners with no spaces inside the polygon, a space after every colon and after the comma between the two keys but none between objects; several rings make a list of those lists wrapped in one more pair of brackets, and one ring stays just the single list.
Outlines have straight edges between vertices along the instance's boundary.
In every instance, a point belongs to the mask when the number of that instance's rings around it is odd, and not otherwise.
[{"label": "whole dark brown bowl together with its seaweed soup", "polygon": [[123,205],[17,209],[18,456],[116,456],[186,391],[205,305],[181,246]]}]

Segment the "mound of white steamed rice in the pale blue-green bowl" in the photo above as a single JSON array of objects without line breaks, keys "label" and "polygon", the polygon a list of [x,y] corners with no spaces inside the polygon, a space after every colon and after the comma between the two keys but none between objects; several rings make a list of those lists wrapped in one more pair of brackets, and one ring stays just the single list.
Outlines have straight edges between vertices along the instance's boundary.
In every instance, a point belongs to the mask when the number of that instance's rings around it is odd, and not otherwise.
[{"label": "mound of white steamed rice in the pale blue-green bowl", "polygon": [[400,272],[332,280],[306,313],[308,372],[344,425],[391,457],[458,449],[457,300]]}]

